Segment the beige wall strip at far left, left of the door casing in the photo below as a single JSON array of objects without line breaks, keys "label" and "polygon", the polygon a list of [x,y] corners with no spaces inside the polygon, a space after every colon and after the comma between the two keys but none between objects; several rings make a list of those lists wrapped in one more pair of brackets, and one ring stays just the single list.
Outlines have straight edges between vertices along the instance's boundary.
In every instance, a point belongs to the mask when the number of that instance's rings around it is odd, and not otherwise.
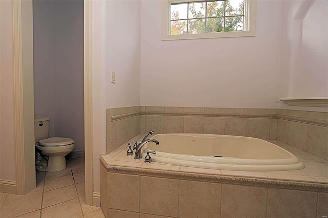
[{"label": "beige wall strip at far left, left of the door casing", "polygon": [[0,1],[0,180],[16,181],[12,1]]}]

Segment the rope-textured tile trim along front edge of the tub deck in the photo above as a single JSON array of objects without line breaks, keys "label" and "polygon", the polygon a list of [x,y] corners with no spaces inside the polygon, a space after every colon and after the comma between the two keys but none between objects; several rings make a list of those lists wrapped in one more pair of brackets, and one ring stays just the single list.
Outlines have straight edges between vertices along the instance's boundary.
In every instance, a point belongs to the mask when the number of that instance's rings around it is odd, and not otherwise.
[{"label": "rope-textured tile trim along front edge of the tub deck", "polygon": [[261,179],[238,176],[210,175],[205,173],[181,172],[171,170],[146,169],[110,165],[100,157],[100,162],[106,167],[107,172],[124,173],[129,175],[160,177],[167,179],[191,180],[200,182],[215,182],[235,185],[259,186],[268,188],[291,189],[301,191],[328,192],[328,185],[322,183],[285,181],[274,179]]}]

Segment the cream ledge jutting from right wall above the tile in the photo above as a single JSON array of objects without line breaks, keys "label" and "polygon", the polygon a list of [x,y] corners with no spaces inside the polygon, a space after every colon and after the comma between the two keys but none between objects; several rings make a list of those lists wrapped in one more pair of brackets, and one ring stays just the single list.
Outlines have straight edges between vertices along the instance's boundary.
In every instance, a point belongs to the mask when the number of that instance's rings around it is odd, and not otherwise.
[{"label": "cream ledge jutting from right wall above the tile", "polygon": [[306,107],[328,107],[328,97],[318,98],[280,98],[289,106],[306,106]]}]

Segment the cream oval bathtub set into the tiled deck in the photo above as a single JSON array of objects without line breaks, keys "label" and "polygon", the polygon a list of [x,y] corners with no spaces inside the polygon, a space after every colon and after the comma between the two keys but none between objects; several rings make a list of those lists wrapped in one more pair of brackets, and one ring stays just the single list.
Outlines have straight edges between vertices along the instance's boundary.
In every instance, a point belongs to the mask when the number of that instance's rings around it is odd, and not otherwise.
[{"label": "cream oval bathtub set into the tiled deck", "polygon": [[142,148],[156,151],[152,160],[199,168],[280,171],[304,168],[291,152],[262,139],[212,134],[158,134]]}]

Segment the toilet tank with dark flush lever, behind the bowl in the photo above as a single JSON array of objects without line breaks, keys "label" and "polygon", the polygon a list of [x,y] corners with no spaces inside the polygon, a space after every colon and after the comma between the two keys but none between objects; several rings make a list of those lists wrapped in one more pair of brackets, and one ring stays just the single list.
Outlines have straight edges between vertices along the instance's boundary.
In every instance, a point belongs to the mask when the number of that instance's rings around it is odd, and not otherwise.
[{"label": "toilet tank with dark flush lever, behind the bowl", "polygon": [[48,116],[34,116],[35,143],[49,137],[49,120]]}]

